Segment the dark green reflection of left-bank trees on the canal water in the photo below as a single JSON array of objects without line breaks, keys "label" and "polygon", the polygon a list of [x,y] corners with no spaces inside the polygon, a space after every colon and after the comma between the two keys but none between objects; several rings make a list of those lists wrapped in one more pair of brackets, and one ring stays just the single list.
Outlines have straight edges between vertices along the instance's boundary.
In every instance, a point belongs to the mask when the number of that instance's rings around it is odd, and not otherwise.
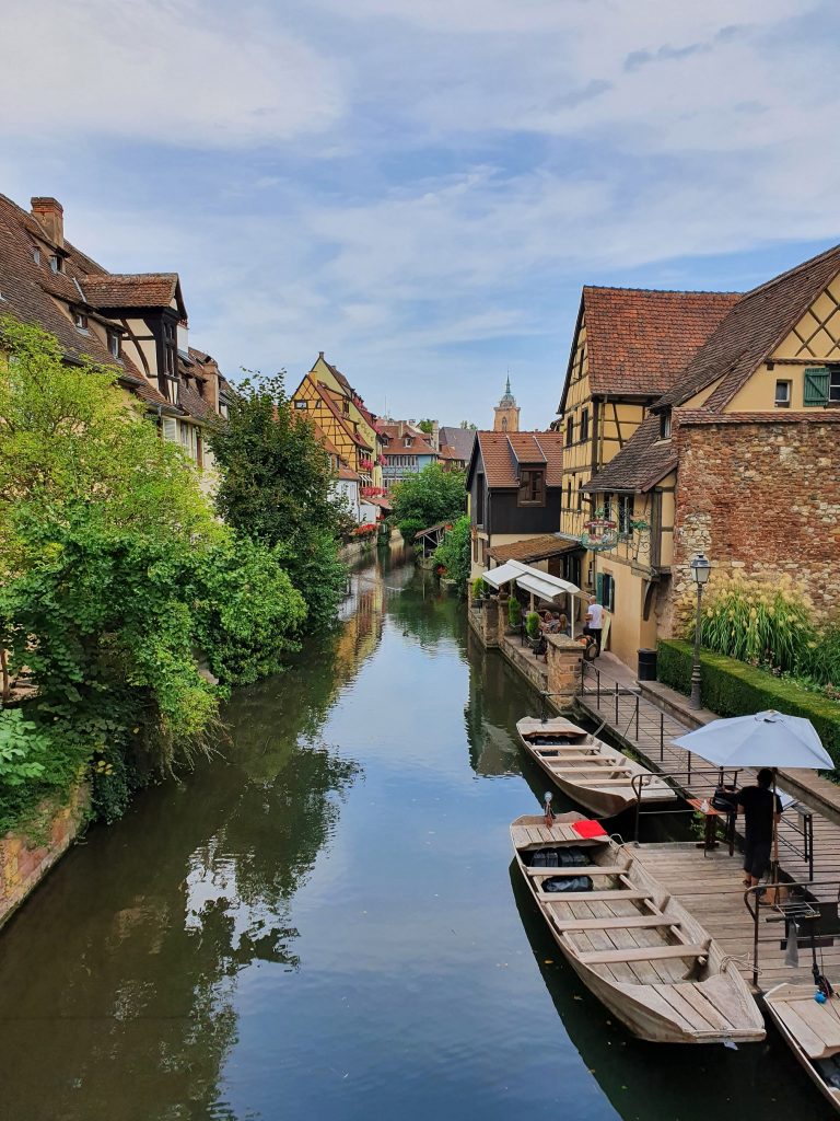
[{"label": "dark green reflection of left-bank trees on the canal water", "polygon": [[7,1115],[233,1119],[215,1103],[237,978],[299,964],[291,900],[358,773],[319,735],[377,615],[237,691],[224,758],[94,830],[3,932]]}]

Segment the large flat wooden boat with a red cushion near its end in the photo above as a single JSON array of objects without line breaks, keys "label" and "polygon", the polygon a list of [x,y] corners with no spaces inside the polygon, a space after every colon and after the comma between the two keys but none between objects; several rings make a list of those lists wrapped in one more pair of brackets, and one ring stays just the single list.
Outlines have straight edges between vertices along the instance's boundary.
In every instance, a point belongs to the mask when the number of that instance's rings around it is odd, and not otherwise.
[{"label": "large flat wooden boat with a red cushion near its end", "polygon": [[[744,978],[708,932],[628,845],[606,835],[581,840],[580,823],[570,816],[556,818],[550,827],[541,815],[517,817],[511,839],[536,906],[590,992],[652,1043],[764,1039],[764,1020]],[[547,850],[586,863],[535,867]],[[591,890],[551,890],[571,877],[587,878]]]}]

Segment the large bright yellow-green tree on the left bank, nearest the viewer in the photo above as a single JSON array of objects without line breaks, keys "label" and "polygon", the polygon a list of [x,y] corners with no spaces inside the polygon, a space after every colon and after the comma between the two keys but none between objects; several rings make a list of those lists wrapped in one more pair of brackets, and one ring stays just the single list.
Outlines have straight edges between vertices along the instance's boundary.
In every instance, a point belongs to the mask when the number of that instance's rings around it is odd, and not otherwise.
[{"label": "large bright yellow-green tree on the left bank, nearest the viewer", "polygon": [[26,731],[52,741],[22,795],[0,776],[0,822],[94,756],[111,818],[213,725],[200,648],[220,677],[252,679],[305,608],[277,555],[218,522],[116,371],[65,364],[10,318],[0,333],[0,636],[38,686]]}]

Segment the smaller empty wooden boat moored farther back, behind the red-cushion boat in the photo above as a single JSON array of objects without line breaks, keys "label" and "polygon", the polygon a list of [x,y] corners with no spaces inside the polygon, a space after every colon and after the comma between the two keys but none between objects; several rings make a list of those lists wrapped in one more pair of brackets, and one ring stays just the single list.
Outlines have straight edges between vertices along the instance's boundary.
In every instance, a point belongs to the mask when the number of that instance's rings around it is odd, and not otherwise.
[{"label": "smaller empty wooden boat moored farther back, behind the red-cushion boat", "polygon": [[653,771],[562,716],[544,723],[525,716],[516,722],[516,731],[525,751],[563,794],[597,817],[634,805],[640,786],[644,803],[678,797]]}]

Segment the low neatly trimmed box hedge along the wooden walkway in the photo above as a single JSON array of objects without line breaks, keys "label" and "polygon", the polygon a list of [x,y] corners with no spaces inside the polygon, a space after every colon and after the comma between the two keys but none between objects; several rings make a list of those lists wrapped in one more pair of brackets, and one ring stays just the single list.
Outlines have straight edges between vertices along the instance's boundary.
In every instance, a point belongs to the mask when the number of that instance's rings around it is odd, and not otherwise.
[{"label": "low neatly trimmed box hedge along the wooden walkway", "polygon": [[[656,676],[679,693],[691,692],[691,642],[665,639],[659,643]],[[700,700],[719,716],[744,716],[752,712],[787,713],[804,716],[816,729],[825,750],[840,768],[840,704],[809,693],[794,682],[773,677],[735,658],[710,650],[700,651]],[[840,779],[834,771],[831,778]]]}]

